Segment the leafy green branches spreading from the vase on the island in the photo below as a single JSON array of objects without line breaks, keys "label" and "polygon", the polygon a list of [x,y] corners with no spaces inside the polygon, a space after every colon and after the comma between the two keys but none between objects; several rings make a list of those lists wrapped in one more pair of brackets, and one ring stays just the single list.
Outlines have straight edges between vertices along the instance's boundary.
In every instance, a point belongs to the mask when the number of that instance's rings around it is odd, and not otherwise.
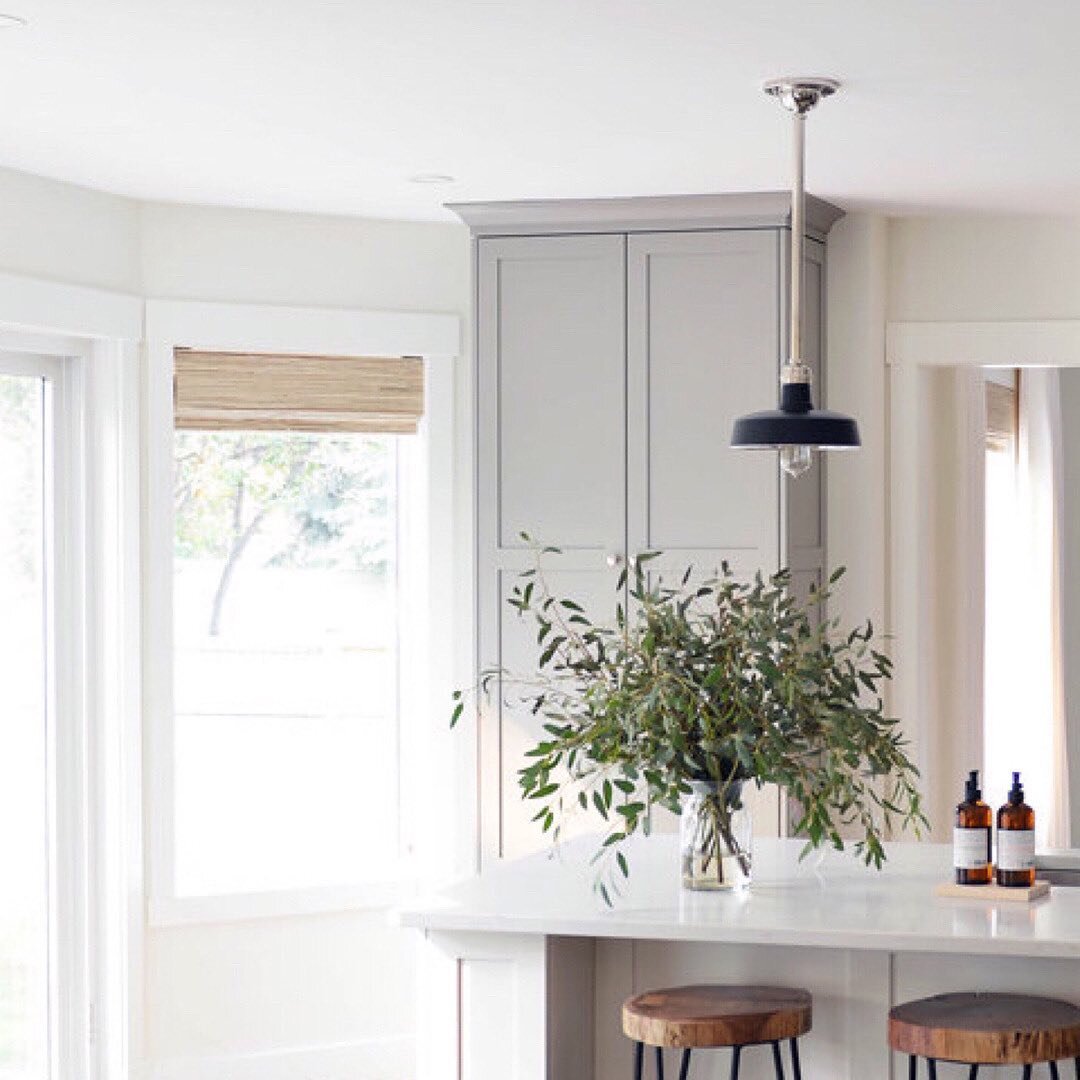
[{"label": "leafy green branches spreading from the vase on the island", "polygon": [[[842,570],[800,600],[786,571],[743,582],[727,565],[704,581],[688,569],[671,586],[650,572],[651,553],[629,581],[623,571],[629,611],[617,604],[605,625],[550,591],[540,564],[557,549],[536,551],[510,604],[536,624],[538,670],[487,671],[480,688],[515,688],[542,718],[545,738],[519,773],[539,827],[557,838],[589,809],[607,823],[595,860],[607,903],[629,876],[623,841],[648,832],[652,807],[678,813],[691,781],[717,783],[720,805],[741,782],[779,784],[800,808],[804,853],[842,850],[854,833],[878,868],[892,828],[926,824],[918,770],[885,713],[889,658],[868,622],[843,631],[821,618]],[[455,693],[451,723],[465,700]]]}]

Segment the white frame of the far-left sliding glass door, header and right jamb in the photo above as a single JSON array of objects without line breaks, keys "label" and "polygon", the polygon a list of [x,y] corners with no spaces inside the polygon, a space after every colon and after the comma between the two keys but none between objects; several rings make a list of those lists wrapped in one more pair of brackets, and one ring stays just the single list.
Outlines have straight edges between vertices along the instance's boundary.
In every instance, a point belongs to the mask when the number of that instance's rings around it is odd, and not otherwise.
[{"label": "white frame of the far-left sliding glass door, header and right jamb", "polygon": [[[126,1076],[141,1055],[137,297],[0,274],[4,370],[53,394],[52,977],[58,1080]],[[17,359],[17,354],[24,359]],[[14,362],[13,362],[14,361]]]}]

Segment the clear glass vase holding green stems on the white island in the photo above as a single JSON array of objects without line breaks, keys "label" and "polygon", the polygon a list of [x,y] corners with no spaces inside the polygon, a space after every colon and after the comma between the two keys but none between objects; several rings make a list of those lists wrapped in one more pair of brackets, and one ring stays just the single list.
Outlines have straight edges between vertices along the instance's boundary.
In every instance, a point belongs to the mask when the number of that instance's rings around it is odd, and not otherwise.
[{"label": "clear glass vase holding green stems on the white island", "polygon": [[745,889],[751,879],[753,822],[742,781],[693,781],[683,805],[683,888]]}]

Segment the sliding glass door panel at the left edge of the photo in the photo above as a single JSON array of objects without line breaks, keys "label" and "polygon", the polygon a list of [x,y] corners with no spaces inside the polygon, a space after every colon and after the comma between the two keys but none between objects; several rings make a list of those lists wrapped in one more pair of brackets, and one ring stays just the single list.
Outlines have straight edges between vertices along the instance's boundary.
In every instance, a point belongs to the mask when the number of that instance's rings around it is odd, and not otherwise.
[{"label": "sliding glass door panel at the left edge of the photo", "polygon": [[68,1027],[54,782],[60,372],[51,357],[0,352],[0,1080],[58,1077]]}]

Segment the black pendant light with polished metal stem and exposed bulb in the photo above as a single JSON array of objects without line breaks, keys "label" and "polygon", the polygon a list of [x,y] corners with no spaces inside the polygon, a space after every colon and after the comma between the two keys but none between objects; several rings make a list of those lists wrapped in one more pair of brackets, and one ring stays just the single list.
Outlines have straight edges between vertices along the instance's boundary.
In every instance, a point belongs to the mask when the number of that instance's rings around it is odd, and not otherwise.
[{"label": "black pendant light with polished metal stem and exposed bulb", "polygon": [[789,476],[801,476],[810,468],[815,449],[848,450],[860,445],[859,424],[850,416],[813,407],[810,368],[801,359],[806,114],[839,86],[833,79],[777,79],[764,87],[795,121],[791,352],[780,374],[780,407],[739,417],[731,431],[731,445],[740,450],[779,450],[780,464]]}]

